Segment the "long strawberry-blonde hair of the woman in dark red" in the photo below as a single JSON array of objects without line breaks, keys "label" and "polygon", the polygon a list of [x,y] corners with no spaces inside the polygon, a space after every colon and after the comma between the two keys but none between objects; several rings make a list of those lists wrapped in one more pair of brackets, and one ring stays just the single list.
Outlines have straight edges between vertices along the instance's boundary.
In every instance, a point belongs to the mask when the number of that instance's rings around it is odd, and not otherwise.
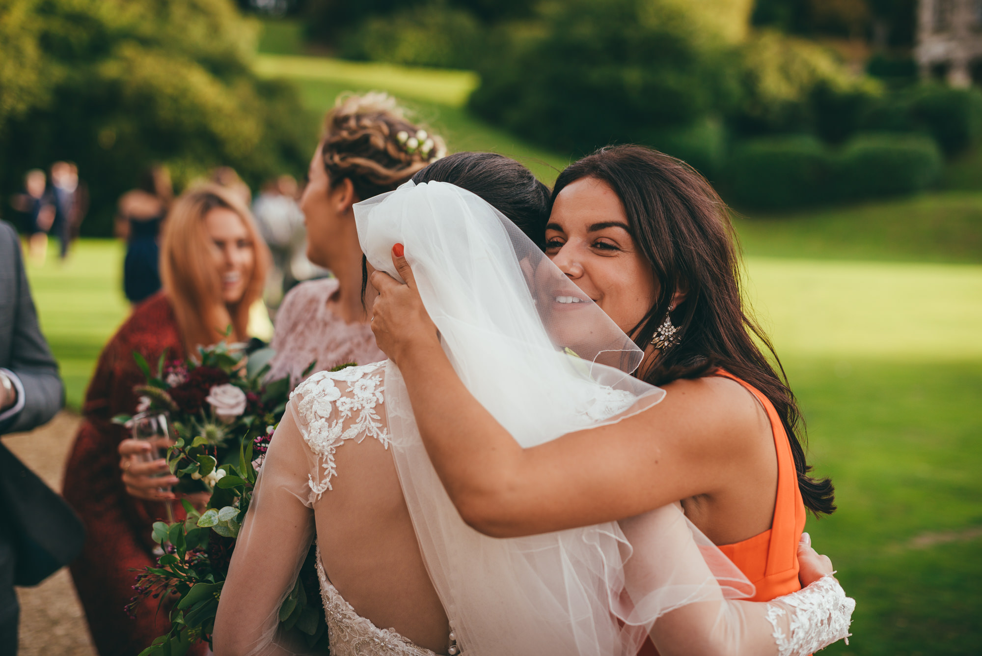
[{"label": "long strawberry-blonde hair of the woman in dark red", "polygon": [[[252,276],[243,298],[228,305],[222,300],[222,281],[212,260],[204,219],[216,207],[239,215],[254,253]],[[248,310],[262,296],[269,249],[259,236],[246,206],[228,190],[207,184],[185,191],[171,206],[164,222],[160,248],[160,278],[174,307],[185,349],[217,344],[232,327],[230,339],[245,341]]]}]

